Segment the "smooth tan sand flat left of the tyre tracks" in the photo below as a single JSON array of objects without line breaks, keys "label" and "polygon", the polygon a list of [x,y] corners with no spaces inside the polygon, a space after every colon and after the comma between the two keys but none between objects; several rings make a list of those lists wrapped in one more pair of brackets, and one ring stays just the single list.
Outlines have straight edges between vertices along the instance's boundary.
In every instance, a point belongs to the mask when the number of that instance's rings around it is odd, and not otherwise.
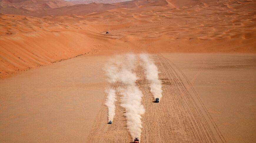
[{"label": "smooth tan sand flat left of the tyre tracks", "polygon": [[105,56],[54,63],[0,81],[0,142],[85,142],[107,87]]}]

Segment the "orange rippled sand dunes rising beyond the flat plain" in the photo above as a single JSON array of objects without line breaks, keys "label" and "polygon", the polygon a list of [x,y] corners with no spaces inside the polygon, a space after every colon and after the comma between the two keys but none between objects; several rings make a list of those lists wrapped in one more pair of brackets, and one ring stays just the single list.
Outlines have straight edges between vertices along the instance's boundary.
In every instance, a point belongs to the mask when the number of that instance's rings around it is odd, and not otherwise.
[{"label": "orange rippled sand dunes rising beyond the flat plain", "polygon": [[255,0],[175,5],[135,0],[51,8],[39,14],[59,16],[40,18],[1,14],[1,78],[82,54],[256,52]]}]

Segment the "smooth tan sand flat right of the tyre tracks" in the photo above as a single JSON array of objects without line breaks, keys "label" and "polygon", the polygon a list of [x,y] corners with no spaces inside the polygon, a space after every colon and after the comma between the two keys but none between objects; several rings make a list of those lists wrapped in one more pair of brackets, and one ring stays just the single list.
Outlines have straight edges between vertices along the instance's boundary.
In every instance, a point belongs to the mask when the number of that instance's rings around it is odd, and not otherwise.
[{"label": "smooth tan sand flat right of the tyre tracks", "polygon": [[187,76],[227,142],[254,142],[255,54],[163,54]]}]

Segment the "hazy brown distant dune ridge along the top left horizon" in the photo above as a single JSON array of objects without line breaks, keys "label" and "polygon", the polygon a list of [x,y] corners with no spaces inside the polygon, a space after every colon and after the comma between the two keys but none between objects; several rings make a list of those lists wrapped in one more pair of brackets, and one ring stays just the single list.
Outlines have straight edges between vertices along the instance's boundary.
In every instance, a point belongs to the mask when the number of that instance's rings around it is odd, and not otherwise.
[{"label": "hazy brown distant dune ridge along the top left horizon", "polygon": [[[17,5],[20,5],[19,3]],[[115,4],[99,4],[99,3],[90,3],[90,4],[77,4],[74,6],[59,6],[51,8],[48,5],[36,6],[36,8],[27,8],[26,5],[23,7],[14,7],[8,5],[6,8],[0,8],[0,13],[4,14],[17,14],[17,15],[29,15],[35,17],[41,17],[45,15],[66,15],[66,14],[88,14],[92,12],[103,12],[106,10],[114,8],[138,8],[143,6],[165,6],[168,3],[165,0],[133,0],[126,1]]]}]

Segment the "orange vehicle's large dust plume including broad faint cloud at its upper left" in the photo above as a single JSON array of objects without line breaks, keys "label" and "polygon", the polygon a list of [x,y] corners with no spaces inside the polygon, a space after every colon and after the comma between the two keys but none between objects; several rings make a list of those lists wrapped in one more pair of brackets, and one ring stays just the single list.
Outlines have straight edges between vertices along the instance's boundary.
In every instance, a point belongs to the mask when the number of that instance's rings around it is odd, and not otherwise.
[{"label": "orange vehicle's large dust plume including broad faint cloud at its upper left", "polygon": [[125,109],[127,129],[133,138],[141,136],[141,115],[145,112],[144,106],[141,104],[143,94],[135,84],[137,76],[133,73],[136,61],[135,54],[117,56],[105,68],[109,82],[124,84],[124,87],[119,87],[118,91],[122,95],[121,106]]}]

